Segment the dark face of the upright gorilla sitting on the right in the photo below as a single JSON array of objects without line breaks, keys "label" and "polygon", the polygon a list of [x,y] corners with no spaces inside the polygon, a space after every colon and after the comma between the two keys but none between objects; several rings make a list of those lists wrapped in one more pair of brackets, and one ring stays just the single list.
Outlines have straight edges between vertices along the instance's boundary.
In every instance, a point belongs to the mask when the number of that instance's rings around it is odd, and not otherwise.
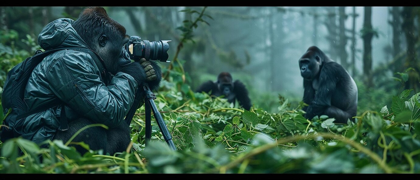
[{"label": "dark face of the upright gorilla sitting on the right", "polygon": [[322,65],[322,61],[320,56],[308,50],[302,58],[299,59],[299,68],[300,68],[300,75],[304,79],[314,79],[320,70],[320,66]]}]

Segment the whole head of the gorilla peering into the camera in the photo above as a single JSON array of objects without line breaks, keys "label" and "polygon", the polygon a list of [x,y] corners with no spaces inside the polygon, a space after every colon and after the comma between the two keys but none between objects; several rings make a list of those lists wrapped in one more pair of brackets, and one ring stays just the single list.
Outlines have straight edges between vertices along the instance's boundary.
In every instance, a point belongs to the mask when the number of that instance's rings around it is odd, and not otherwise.
[{"label": "whole head of the gorilla peering into the camera", "polygon": [[105,61],[105,68],[118,72],[116,64],[131,62],[123,45],[129,41],[126,29],[111,19],[102,7],[85,8],[72,24],[77,34]]}]

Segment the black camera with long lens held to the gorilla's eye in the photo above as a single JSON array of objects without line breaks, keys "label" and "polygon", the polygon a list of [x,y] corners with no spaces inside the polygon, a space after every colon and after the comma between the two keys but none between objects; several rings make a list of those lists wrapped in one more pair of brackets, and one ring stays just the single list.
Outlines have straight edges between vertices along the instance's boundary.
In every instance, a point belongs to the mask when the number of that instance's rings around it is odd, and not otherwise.
[{"label": "black camera with long lens held to the gorilla's eye", "polygon": [[148,60],[158,60],[160,62],[168,61],[169,44],[171,40],[148,41],[142,40],[139,36],[131,36],[129,42],[126,43],[125,48],[129,53],[130,59],[139,61],[140,58]]}]

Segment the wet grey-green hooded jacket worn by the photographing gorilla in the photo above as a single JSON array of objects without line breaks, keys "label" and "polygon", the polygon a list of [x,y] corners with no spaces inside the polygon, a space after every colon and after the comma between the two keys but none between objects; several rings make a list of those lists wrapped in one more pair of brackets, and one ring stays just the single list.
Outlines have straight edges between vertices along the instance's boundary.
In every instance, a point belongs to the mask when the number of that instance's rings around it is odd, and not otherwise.
[{"label": "wet grey-green hooded jacket worn by the photographing gorilla", "polygon": [[[71,26],[73,22],[65,18],[51,22],[39,34],[38,44],[44,50],[86,48]],[[29,110],[57,100],[63,104],[22,119],[23,127],[16,130],[35,143],[52,139],[60,126],[62,106],[69,121],[85,117],[111,128],[118,126],[134,102],[137,82],[129,74],[118,72],[105,85],[103,69],[102,63],[87,53],[60,50],[48,55],[29,77],[24,101]]]}]

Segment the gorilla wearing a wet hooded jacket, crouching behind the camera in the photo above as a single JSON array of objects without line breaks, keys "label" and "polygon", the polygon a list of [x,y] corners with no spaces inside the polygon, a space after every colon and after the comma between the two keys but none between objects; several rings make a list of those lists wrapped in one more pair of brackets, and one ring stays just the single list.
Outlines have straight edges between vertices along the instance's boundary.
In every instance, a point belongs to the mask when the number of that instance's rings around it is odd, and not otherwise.
[{"label": "gorilla wearing a wet hooded jacket, crouching behind the camera", "polygon": [[[100,58],[76,50],[59,50],[44,58],[28,80],[25,102],[29,110],[56,99],[62,104],[23,119],[22,136],[36,143],[48,139],[65,143],[82,127],[100,123],[109,129],[90,127],[73,141],[84,141],[90,149],[109,154],[125,151],[130,128],[123,118],[134,102],[136,88],[148,81],[150,89],[157,90],[161,80],[155,62],[131,62],[123,48],[128,40],[126,29],[100,7],[84,9],[76,21],[62,18],[45,26],[38,36],[44,50],[84,47]],[[59,128],[62,119],[67,119],[68,130]]]}]

